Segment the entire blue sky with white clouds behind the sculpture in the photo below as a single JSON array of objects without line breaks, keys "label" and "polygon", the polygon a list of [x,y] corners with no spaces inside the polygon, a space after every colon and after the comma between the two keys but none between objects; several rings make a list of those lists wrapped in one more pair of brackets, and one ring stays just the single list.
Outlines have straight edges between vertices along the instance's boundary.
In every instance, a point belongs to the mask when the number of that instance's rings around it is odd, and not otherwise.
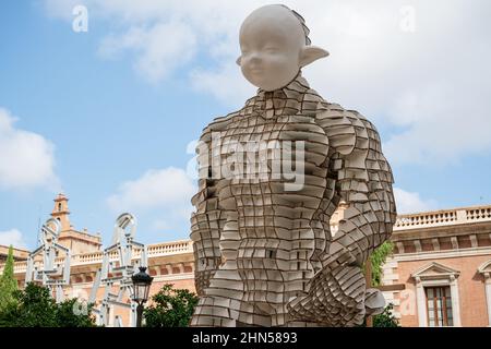
[{"label": "entire blue sky with white clouds behind the sculpture", "polygon": [[[59,192],[110,244],[187,239],[193,142],[255,87],[235,63],[271,1],[32,0],[0,4],[0,244],[34,249]],[[330,57],[303,70],[378,128],[400,214],[491,204],[491,3],[284,1]]]}]

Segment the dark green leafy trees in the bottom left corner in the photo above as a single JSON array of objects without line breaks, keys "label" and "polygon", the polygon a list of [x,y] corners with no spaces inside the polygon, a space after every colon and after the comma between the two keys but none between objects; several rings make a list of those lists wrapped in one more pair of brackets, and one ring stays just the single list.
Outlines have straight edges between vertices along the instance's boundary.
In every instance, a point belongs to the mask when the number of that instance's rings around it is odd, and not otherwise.
[{"label": "dark green leafy trees in the bottom left corner", "polygon": [[[57,304],[48,288],[27,284],[14,292],[15,302],[0,312],[0,327],[91,327],[92,306],[81,306],[76,299]],[[81,311],[82,310],[82,311]]]}]

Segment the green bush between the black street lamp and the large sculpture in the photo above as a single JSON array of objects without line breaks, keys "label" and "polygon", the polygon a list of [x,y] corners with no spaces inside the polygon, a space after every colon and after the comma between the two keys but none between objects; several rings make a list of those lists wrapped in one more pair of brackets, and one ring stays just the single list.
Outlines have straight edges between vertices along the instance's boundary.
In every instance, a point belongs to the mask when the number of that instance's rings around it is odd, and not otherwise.
[{"label": "green bush between the black street lamp and the large sculpture", "polygon": [[187,289],[173,289],[166,284],[152,297],[153,304],[145,309],[147,327],[188,327],[197,304],[197,296]]}]

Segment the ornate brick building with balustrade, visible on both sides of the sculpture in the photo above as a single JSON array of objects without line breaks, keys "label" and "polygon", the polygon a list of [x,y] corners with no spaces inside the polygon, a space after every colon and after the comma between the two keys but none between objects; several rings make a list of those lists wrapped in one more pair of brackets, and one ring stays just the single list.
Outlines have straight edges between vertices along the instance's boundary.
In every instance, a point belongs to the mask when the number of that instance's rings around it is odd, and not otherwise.
[{"label": "ornate brick building with balustrade, visible on both sides of the sculpture", "polygon": [[[64,294],[87,300],[103,263],[101,240],[74,229],[69,214],[68,197],[59,195],[51,215],[62,225],[59,242],[72,250],[71,282]],[[343,207],[332,221],[333,232],[340,219]],[[383,267],[383,290],[402,326],[491,325],[491,206],[402,215],[392,241],[395,249]],[[0,258],[7,251],[0,246]],[[27,255],[27,251],[15,251],[14,274],[20,287],[24,285]],[[190,240],[149,244],[147,257],[148,273],[154,277],[151,294],[165,284],[195,290]],[[133,258],[140,258],[140,252]],[[110,260],[116,261],[117,255]],[[63,258],[57,263],[61,265]],[[0,273],[2,269],[0,260]],[[100,302],[104,289],[96,294]],[[128,324],[124,310],[113,310],[110,318],[116,316]]]}]

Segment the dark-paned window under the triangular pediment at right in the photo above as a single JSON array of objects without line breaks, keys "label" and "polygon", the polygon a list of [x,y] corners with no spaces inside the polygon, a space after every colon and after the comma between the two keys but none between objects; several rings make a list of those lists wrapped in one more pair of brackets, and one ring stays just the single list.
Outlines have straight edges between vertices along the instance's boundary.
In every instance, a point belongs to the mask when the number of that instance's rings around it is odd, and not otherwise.
[{"label": "dark-paned window under the triangular pediment at right", "polygon": [[430,327],[453,326],[451,288],[426,287],[428,325]]}]

